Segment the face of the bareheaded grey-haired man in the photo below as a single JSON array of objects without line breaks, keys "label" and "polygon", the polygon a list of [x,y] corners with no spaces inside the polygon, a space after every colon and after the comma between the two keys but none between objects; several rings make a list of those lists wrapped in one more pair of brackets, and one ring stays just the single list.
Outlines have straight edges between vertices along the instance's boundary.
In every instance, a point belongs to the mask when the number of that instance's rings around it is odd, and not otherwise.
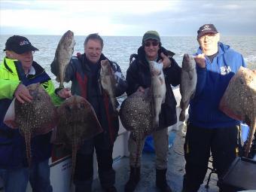
[{"label": "face of the bareheaded grey-haired man", "polygon": [[96,39],[90,39],[84,47],[84,53],[90,62],[98,62],[100,55],[102,54],[102,45],[100,41]]}]

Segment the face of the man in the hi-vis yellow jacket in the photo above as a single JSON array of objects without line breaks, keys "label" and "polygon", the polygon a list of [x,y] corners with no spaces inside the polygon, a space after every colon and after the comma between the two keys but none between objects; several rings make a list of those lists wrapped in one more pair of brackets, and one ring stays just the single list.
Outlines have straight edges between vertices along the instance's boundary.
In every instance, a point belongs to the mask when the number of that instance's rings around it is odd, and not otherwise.
[{"label": "face of the man in the hi-vis yellow jacket", "polygon": [[30,69],[33,62],[34,51],[30,50],[25,53],[17,54],[14,51],[8,51],[7,56],[10,59],[18,59],[23,66],[23,69]]}]

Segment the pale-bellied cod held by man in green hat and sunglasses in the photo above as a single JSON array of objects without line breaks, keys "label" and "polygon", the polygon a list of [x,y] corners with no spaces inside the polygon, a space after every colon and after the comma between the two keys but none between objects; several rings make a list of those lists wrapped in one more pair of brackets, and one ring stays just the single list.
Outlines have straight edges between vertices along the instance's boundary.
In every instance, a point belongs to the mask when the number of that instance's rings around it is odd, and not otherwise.
[{"label": "pale-bellied cod held by man in green hat and sunglasses", "polygon": [[163,63],[149,62],[151,71],[151,92],[154,106],[154,127],[159,126],[159,114],[166,100],[166,83],[163,75]]}]

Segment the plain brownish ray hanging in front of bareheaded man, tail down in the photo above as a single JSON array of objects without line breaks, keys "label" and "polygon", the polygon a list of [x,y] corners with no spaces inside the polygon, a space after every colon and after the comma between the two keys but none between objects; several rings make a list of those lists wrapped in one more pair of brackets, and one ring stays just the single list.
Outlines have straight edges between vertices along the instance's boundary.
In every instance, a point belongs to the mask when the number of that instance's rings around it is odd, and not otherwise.
[{"label": "plain brownish ray hanging in front of bareheaded man, tail down", "polygon": [[93,107],[81,96],[71,96],[57,108],[59,123],[53,143],[66,145],[72,151],[72,178],[76,154],[84,140],[102,133],[102,126]]}]

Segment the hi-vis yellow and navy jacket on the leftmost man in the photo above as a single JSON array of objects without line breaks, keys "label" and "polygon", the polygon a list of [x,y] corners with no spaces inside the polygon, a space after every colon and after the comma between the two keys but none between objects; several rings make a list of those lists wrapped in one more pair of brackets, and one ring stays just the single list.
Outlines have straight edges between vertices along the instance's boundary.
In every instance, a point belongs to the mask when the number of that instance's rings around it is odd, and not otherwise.
[{"label": "hi-vis yellow and navy jacket on the leftmost man", "polygon": [[[15,59],[4,58],[0,64],[0,169],[15,169],[27,166],[25,139],[18,129],[11,129],[3,123],[6,111],[14,98],[18,84],[41,83],[50,94],[53,103],[62,102],[54,93],[50,77],[38,63],[33,62],[35,75],[24,74],[21,63]],[[51,154],[51,133],[35,136],[31,141],[32,163],[47,160]]]}]

